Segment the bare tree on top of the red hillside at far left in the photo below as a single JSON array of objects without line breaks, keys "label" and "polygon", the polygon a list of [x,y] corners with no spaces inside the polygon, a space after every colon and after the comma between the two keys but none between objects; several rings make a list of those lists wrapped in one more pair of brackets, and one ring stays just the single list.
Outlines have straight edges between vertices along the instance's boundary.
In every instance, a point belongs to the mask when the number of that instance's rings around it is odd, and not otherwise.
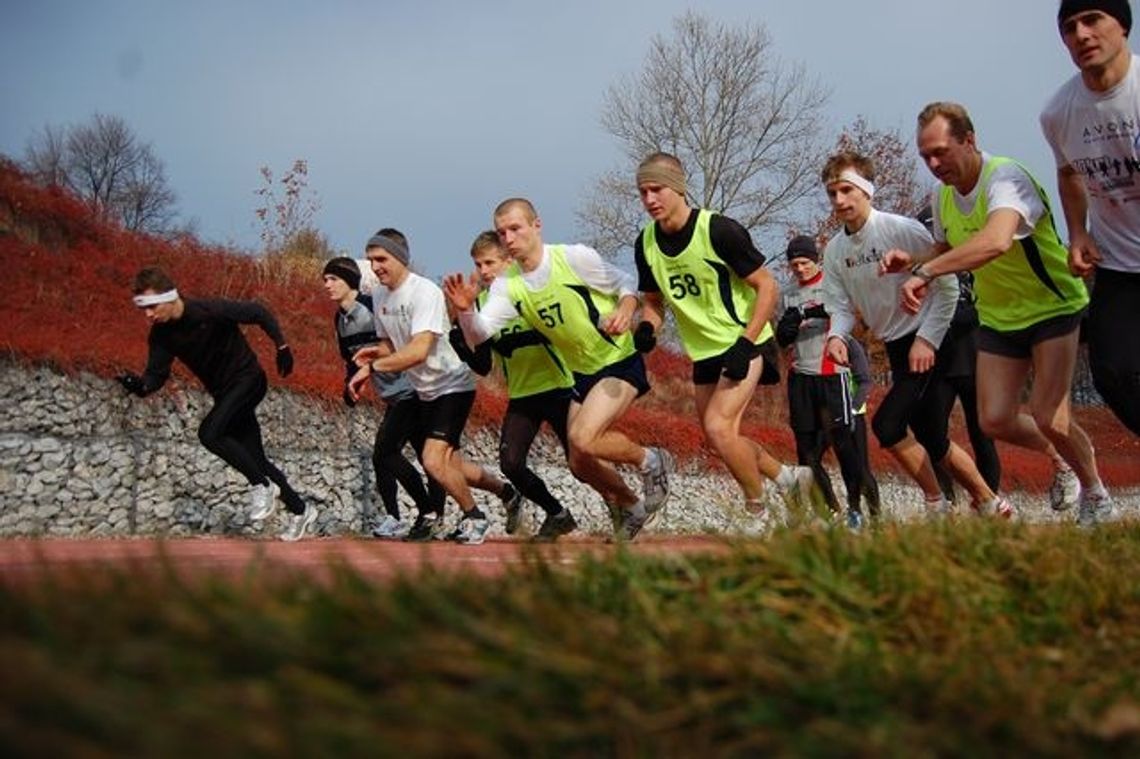
[{"label": "bare tree on top of the red hillside at far left", "polygon": [[44,126],[28,141],[25,164],[39,181],[70,189],[127,229],[172,228],[177,197],[163,163],[119,116],[97,113],[75,126]]}]

